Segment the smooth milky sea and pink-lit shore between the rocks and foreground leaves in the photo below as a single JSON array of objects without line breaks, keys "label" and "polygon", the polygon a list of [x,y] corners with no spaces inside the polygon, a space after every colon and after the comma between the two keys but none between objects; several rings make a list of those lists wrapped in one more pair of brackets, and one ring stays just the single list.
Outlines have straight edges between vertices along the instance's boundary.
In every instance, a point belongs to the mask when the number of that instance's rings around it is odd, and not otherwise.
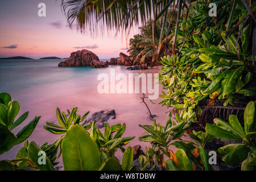
[{"label": "smooth milky sea and pink-lit shore between the rocks and foreground leaves", "polygon": [[[141,144],[148,146],[148,143],[141,143],[138,137],[146,134],[139,127],[151,125],[146,106],[141,103],[142,94],[100,94],[97,92],[97,85],[100,81],[97,76],[100,73],[110,75],[110,69],[115,73],[150,73],[159,72],[159,68],[148,69],[147,71],[127,71],[126,67],[109,66],[108,68],[59,68],[57,65],[62,60],[0,60],[0,93],[7,92],[13,100],[20,104],[19,115],[29,111],[28,118],[20,126],[13,130],[17,134],[22,127],[27,125],[35,116],[41,116],[34,132],[28,138],[31,142],[42,145],[45,142],[53,143],[60,137],[44,130],[46,122],[57,123],[56,108],[61,111],[72,110],[78,107],[77,114],[83,115],[90,111],[92,115],[100,110],[115,110],[117,118],[109,121],[110,125],[126,123],[126,131],[123,137],[136,137],[130,142],[130,146]],[[161,90],[159,90],[159,93]],[[157,122],[164,125],[168,118],[166,107],[157,103],[147,102],[151,113],[158,115]],[[18,118],[17,117],[17,118]],[[20,143],[10,151],[0,155],[2,159],[15,159],[15,155],[24,143]],[[121,158],[120,152],[117,158]],[[60,166],[61,166],[61,159]]]}]

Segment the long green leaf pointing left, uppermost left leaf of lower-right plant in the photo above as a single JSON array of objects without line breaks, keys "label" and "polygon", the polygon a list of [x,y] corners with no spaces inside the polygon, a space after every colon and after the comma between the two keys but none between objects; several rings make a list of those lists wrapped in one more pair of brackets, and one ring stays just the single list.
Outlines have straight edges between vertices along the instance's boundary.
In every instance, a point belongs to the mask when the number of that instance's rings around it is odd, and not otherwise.
[{"label": "long green leaf pointing left, uppermost left leaf of lower-right plant", "polygon": [[205,130],[207,131],[208,134],[213,135],[217,138],[225,139],[225,140],[241,140],[240,137],[237,135],[234,135],[230,131],[221,129],[218,126],[210,125],[207,123]]}]

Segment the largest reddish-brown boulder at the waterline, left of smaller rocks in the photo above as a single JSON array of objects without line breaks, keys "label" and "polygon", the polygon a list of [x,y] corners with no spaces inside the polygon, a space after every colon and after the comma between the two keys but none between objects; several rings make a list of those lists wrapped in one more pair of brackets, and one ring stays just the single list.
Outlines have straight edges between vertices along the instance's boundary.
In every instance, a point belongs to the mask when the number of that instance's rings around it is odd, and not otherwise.
[{"label": "largest reddish-brown boulder at the waterline, left of smaller rocks", "polygon": [[72,52],[68,59],[59,63],[59,67],[89,67],[93,60],[100,61],[95,53],[83,49]]}]

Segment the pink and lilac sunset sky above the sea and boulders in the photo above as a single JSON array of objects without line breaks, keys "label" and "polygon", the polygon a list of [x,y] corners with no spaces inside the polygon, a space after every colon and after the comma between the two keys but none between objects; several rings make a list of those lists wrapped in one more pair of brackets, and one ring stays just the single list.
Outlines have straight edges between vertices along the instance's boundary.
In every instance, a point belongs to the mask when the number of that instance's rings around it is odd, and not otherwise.
[{"label": "pink and lilac sunset sky above the sea and boulders", "polygon": [[[46,17],[38,16],[39,3],[46,4]],[[74,24],[74,27],[75,24]],[[127,40],[138,34],[135,27],[131,34],[104,33],[92,38],[69,28],[60,0],[1,0],[0,1],[0,57],[24,56],[69,57],[71,52],[88,49],[100,58],[127,54]],[[126,39],[127,38],[127,39]]]}]

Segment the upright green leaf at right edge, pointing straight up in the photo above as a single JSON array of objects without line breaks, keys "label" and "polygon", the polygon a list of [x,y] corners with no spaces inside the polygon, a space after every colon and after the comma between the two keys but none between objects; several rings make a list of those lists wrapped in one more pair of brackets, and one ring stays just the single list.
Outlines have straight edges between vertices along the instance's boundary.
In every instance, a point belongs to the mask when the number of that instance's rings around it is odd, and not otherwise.
[{"label": "upright green leaf at right edge, pointing straight up", "polygon": [[[255,114],[255,106],[254,102],[250,101],[246,107],[245,111],[243,113],[243,121],[245,122],[245,132],[249,133],[251,126],[253,126],[254,122],[254,114]],[[253,129],[252,129],[253,130]]]}]

